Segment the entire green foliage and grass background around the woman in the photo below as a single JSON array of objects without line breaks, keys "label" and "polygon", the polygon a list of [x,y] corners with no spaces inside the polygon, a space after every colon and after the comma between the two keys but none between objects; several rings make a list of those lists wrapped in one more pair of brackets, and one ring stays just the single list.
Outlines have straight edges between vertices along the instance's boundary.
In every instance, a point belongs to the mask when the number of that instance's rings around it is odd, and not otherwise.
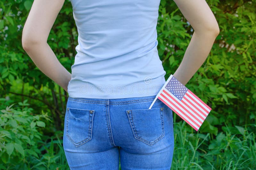
[{"label": "entire green foliage and grass background around the woman", "polygon": [[[206,2],[220,34],[186,86],[212,111],[198,132],[174,114],[172,169],[256,169],[256,0]],[[62,149],[68,94],[35,66],[21,45],[32,3],[0,1],[0,168],[68,169]],[[161,0],[157,32],[167,79],[178,68],[193,28],[173,1]],[[77,36],[67,0],[48,44],[70,73]]]}]

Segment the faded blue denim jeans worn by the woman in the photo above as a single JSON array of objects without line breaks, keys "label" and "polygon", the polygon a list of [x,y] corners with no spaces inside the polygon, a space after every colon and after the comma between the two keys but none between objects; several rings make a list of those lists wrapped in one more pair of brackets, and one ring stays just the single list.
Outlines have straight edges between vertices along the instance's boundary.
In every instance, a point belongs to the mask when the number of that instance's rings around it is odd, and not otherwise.
[{"label": "faded blue denim jeans worn by the woman", "polygon": [[68,97],[63,148],[73,169],[170,170],[172,110],[156,96],[119,99]]}]

